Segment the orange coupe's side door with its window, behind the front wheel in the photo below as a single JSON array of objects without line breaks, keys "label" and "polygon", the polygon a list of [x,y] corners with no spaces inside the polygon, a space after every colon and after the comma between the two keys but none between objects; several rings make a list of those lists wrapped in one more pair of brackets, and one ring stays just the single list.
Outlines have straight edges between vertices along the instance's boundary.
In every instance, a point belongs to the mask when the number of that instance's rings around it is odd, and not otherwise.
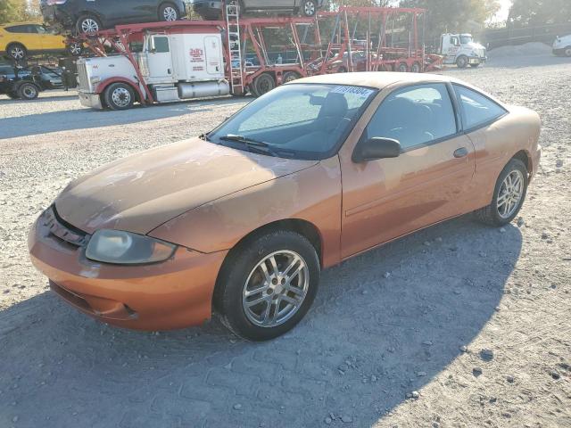
[{"label": "orange coupe's side door with its window, behind the front wheel", "polygon": [[355,163],[354,144],[339,152],[343,258],[464,212],[475,154],[451,90],[438,82],[385,96],[360,138],[396,139],[398,157]]}]

